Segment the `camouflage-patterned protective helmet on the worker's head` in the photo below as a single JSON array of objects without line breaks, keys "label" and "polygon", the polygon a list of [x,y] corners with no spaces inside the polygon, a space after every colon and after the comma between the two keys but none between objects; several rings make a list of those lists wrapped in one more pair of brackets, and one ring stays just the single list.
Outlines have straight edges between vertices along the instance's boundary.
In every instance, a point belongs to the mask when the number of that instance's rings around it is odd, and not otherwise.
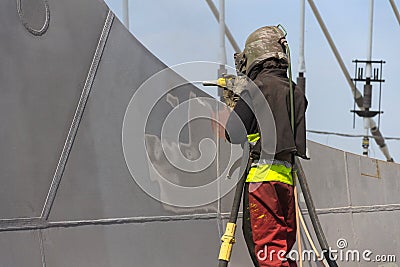
[{"label": "camouflage-patterned protective helmet on the worker's head", "polygon": [[244,48],[246,57],[246,72],[258,63],[269,59],[287,59],[287,55],[282,45],[285,40],[285,33],[277,26],[265,26],[257,29],[247,37]]}]

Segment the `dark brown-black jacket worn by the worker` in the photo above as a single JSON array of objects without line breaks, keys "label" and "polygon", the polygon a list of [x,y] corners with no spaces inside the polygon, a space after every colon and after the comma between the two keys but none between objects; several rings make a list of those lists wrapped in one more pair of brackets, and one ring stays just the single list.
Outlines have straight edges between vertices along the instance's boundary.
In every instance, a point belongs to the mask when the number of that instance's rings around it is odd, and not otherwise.
[{"label": "dark brown-black jacket worn by the worker", "polygon": [[[307,99],[303,91],[293,83],[294,88],[294,107],[295,107],[295,134],[293,135],[290,122],[290,90],[289,79],[287,78],[286,69],[269,69],[263,68],[256,75],[253,82],[261,90],[266,98],[276,128],[276,147],[275,158],[288,160],[292,153],[296,153],[302,158],[306,157],[306,125],[305,111],[307,108]],[[265,100],[260,100],[255,97],[254,93],[250,92],[250,98],[253,107],[257,110],[260,105],[265,105]],[[247,134],[258,132],[258,123],[255,115],[245,101],[241,98],[234,112],[238,116],[229,116],[225,135],[231,143],[241,144],[246,141],[246,135],[237,129],[240,124],[246,128]],[[262,136],[268,136],[263,134]],[[269,140],[262,140],[262,149],[265,149],[266,143]]]}]

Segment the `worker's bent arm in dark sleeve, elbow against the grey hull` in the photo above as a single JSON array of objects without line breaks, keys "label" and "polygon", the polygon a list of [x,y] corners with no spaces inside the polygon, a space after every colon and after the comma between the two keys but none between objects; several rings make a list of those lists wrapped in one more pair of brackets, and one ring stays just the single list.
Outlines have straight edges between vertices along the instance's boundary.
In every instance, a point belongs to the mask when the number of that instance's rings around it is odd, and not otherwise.
[{"label": "worker's bent arm in dark sleeve, elbow against the grey hull", "polygon": [[243,144],[247,141],[247,134],[254,133],[256,129],[257,121],[254,113],[240,98],[226,123],[226,139],[233,144]]}]

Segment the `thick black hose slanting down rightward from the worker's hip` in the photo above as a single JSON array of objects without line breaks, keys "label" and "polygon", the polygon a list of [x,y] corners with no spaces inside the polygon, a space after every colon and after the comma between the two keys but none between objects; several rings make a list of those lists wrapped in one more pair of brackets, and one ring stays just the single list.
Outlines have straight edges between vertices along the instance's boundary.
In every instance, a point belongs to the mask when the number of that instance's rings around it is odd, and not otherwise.
[{"label": "thick black hose slanting down rightward from the worker's hip", "polygon": [[310,188],[308,187],[303,167],[301,166],[300,160],[298,158],[295,159],[295,163],[297,177],[299,179],[301,191],[303,192],[304,200],[306,202],[308,214],[310,215],[311,223],[314,227],[315,234],[317,235],[319,245],[324,253],[324,258],[326,259],[330,267],[338,267],[336,261],[333,259],[328,242],[326,241],[326,237],[324,235],[324,231],[322,230],[321,224],[319,222],[317,212],[315,211],[314,202],[311,197]]}]

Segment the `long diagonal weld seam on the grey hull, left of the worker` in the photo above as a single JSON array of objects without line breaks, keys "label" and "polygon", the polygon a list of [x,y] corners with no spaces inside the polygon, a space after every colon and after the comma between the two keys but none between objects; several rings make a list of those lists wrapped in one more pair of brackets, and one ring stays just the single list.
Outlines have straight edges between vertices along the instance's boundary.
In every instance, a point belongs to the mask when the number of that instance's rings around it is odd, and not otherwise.
[{"label": "long diagonal weld seam on the grey hull, left of the worker", "polygon": [[95,50],[95,53],[93,56],[93,60],[90,65],[89,72],[86,77],[86,81],[83,86],[82,93],[81,93],[78,105],[76,107],[74,117],[72,119],[71,127],[69,129],[67,138],[65,140],[64,147],[61,152],[61,156],[58,161],[57,168],[54,173],[53,180],[52,180],[49,192],[47,194],[42,213],[40,215],[41,218],[43,218],[45,220],[47,220],[50,215],[50,210],[53,205],[54,199],[56,197],[57,190],[60,185],[61,178],[64,173],[65,166],[66,166],[69,154],[71,152],[72,145],[75,140],[75,136],[78,132],[79,124],[82,119],[87,100],[89,98],[90,90],[92,88],[93,81],[96,76],[99,62],[101,60],[105,45],[107,43],[108,35],[110,33],[110,29],[111,29],[113,20],[114,20],[114,13],[112,13],[110,10],[108,10],[107,18],[105,20],[103,29],[101,31],[101,35],[100,35],[100,38],[99,38],[99,41],[98,41],[98,44],[97,44],[97,47],[96,47],[96,50]]}]

